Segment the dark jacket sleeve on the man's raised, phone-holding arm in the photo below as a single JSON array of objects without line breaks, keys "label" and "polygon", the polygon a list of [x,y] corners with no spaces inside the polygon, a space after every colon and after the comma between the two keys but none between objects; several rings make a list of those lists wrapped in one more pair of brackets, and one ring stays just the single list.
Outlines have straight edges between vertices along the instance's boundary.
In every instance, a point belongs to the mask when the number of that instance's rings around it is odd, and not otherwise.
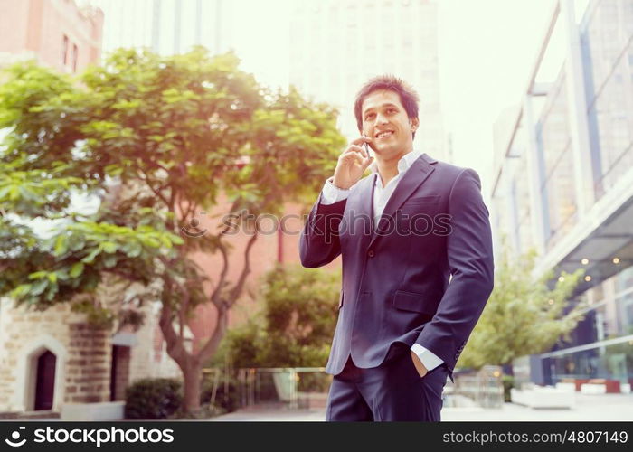
[{"label": "dark jacket sleeve on the man's raised, phone-holding arm", "polygon": [[299,238],[301,265],[307,268],[321,267],[341,254],[338,229],[345,212],[347,200],[325,205],[321,197],[307,216]]}]

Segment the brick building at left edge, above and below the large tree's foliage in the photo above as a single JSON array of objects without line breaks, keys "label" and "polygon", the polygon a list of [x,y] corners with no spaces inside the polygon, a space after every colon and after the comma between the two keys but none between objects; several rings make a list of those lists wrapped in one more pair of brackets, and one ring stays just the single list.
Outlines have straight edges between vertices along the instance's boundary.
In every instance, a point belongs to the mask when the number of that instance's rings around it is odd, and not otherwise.
[{"label": "brick building at left edge, above and below the large tree's foliage", "polygon": [[[72,73],[99,64],[103,13],[73,0],[0,0],[0,66],[35,59]],[[123,400],[130,381],[175,376],[157,326],[112,334],[86,323],[68,305],[44,312],[0,299],[0,418],[24,411],[60,412],[68,403]],[[2,413],[5,413],[3,416]]]}]

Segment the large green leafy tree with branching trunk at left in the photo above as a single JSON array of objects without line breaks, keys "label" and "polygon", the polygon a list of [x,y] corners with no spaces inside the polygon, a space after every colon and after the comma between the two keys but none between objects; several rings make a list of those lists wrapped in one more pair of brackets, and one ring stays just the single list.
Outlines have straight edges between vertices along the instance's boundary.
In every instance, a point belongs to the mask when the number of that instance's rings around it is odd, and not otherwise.
[{"label": "large green leafy tree with branching trunk at left", "polygon": [[[269,92],[238,66],[232,53],[203,48],[169,57],[121,49],[74,80],[19,64],[0,87],[0,296],[36,309],[70,303],[106,325],[122,313],[138,323],[130,313],[159,301],[188,412],[199,409],[202,364],[250,273],[253,218],[311,202],[345,144],[334,109],[294,89]],[[99,196],[98,212],[73,212],[71,193]],[[183,234],[197,212],[222,208],[221,194],[233,221]],[[43,235],[34,219],[53,226]],[[251,231],[234,280],[231,224]],[[207,275],[193,253],[218,253],[222,265]],[[123,308],[98,297],[99,287],[129,283],[145,289]],[[218,320],[192,353],[184,328],[202,304]]]}]

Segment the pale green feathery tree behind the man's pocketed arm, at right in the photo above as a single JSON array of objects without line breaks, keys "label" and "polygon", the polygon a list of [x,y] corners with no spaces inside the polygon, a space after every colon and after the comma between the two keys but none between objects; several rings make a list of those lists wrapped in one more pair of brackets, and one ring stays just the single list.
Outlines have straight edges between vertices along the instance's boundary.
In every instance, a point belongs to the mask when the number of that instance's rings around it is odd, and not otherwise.
[{"label": "pale green feathery tree behind the man's pocketed arm, at right", "polygon": [[460,366],[503,365],[546,352],[582,320],[583,305],[570,303],[582,269],[562,272],[553,283],[553,271],[534,277],[534,251],[511,259],[504,250],[496,263],[495,288],[459,358]]}]

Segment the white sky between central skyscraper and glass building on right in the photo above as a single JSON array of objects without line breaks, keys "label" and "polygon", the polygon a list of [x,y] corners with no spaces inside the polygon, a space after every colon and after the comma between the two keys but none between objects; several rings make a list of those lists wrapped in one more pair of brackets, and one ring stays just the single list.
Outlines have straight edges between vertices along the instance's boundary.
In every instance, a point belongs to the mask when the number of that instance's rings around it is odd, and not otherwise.
[{"label": "white sky between central skyscraper and glass building on right", "polygon": [[439,0],[440,99],[453,163],[475,168],[488,189],[493,124],[521,102],[552,4]]}]

